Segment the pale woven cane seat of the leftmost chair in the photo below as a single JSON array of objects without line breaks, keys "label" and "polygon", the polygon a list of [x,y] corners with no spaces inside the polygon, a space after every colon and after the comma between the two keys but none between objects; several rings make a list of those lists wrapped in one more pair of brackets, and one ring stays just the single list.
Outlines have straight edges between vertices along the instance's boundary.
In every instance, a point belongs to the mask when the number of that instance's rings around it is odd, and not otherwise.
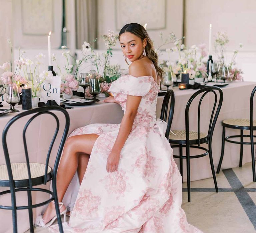
[{"label": "pale woven cane seat of the leftmost chair", "polygon": [[[29,163],[31,178],[43,178],[45,173],[45,164]],[[28,180],[27,163],[11,163],[12,175],[14,181]],[[52,172],[52,168],[48,166],[47,174]],[[0,165],[0,181],[9,181],[6,164]]]}]

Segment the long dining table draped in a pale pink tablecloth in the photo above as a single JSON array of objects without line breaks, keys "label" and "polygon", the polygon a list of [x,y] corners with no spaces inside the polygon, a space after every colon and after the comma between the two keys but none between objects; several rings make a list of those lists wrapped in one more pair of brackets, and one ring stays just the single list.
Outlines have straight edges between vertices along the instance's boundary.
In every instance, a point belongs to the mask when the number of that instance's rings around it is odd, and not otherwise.
[{"label": "long dining table draped in a pale pink tablecloth", "polygon": [[[222,136],[222,125],[221,122],[226,118],[249,118],[250,109],[250,94],[253,88],[256,86],[256,82],[232,82],[228,86],[223,87],[223,104],[222,108],[214,129],[212,139],[212,152],[215,170],[217,168],[220,153],[221,153],[221,136]],[[189,98],[197,91],[193,89],[179,90],[177,87],[173,88],[175,93],[175,109],[174,116],[171,125],[171,130],[185,130],[185,107]],[[156,117],[160,118],[161,106],[163,102],[163,96],[159,96],[156,106]],[[76,106],[74,109],[67,109],[70,116],[70,128],[69,134],[76,128],[85,126],[92,123],[115,123],[121,122],[123,117],[123,111],[117,104],[103,103],[104,98],[99,98],[100,102],[94,105],[88,106]],[[197,130],[197,109],[198,100],[195,99],[190,108],[189,122],[190,130]],[[205,96],[201,105],[201,122],[200,131],[207,133],[210,121],[210,115],[212,106],[214,103],[214,97],[211,94]],[[9,108],[9,105],[4,102],[4,109]],[[17,109],[22,112],[21,105],[17,106]],[[256,114],[256,108],[254,108],[254,116]],[[0,132],[3,131],[6,123],[15,115],[19,113],[9,113],[5,116],[0,117]],[[64,122],[64,116],[61,113],[56,112],[60,122]],[[7,135],[8,149],[11,158],[11,162],[24,162],[24,148],[22,141],[22,130],[25,123],[28,121],[29,116],[23,117],[18,122],[15,122],[10,128]],[[63,131],[64,124],[61,123],[60,132],[58,133],[56,144],[53,147],[50,165],[53,166],[55,155],[58,149],[58,143],[60,142],[61,132]],[[31,125],[27,129],[27,143],[28,153],[31,162],[44,163],[46,153],[49,148],[49,143],[54,132],[55,123],[50,116],[38,116],[31,122]],[[239,130],[226,129],[226,135],[239,134]],[[244,132],[245,134],[248,132]],[[157,146],[157,145],[156,145]],[[207,144],[201,146],[207,147]],[[178,148],[174,148],[174,154],[178,154]],[[191,149],[191,154],[197,153],[197,151]],[[184,150],[185,154],[185,150]],[[225,144],[225,154],[222,162],[222,169],[233,168],[239,164],[240,145],[227,143]],[[179,167],[179,159],[175,159]],[[244,146],[244,157],[243,164],[251,162],[250,146]],[[5,164],[5,158],[3,154],[2,144],[0,145],[0,164]],[[191,181],[200,180],[212,177],[209,157],[201,157],[191,159],[190,162]],[[183,178],[186,181],[186,164],[183,163]],[[218,182],[218,178],[217,178]],[[43,186],[43,185],[42,185]],[[49,184],[47,184],[49,188]],[[6,190],[7,188],[0,187],[0,191]],[[73,199],[75,199],[76,193],[74,192]],[[17,204],[26,204],[27,194],[20,192],[17,194]],[[43,201],[48,197],[48,194],[44,193],[32,193],[33,202]],[[10,195],[4,195],[0,197],[0,205],[2,203],[10,204]],[[44,207],[37,208],[34,211],[34,219],[36,215],[42,211]],[[19,232],[25,232],[29,229],[28,211],[19,210],[18,214],[18,229]],[[1,232],[12,232],[12,217],[11,211],[0,210],[0,233]]]}]

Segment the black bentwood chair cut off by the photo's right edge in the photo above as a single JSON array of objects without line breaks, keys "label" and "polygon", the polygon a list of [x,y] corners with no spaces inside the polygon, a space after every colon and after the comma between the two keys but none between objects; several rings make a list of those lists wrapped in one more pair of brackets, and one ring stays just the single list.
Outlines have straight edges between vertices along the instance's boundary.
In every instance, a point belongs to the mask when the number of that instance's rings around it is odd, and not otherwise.
[{"label": "black bentwood chair cut off by the photo's right edge", "polygon": [[[225,141],[240,144],[240,160],[239,160],[239,167],[242,167],[243,162],[243,145],[251,145],[251,154],[252,154],[252,177],[253,182],[256,182],[255,177],[255,156],[254,156],[254,144],[256,142],[253,142],[253,137],[256,137],[256,135],[253,135],[253,130],[256,130],[256,120],[253,120],[253,97],[256,92],[256,87],[252,90],[251,97],[250,97],[250,119],[225,119],[222,121],[222,144],[221,144],[221,155],[220,155],[220,161],[217,168],[217,173],[220,172],[221,163],[223,160],[224,155],[224,146]],[[227,128],[233,128],[233,129],[240,129],[240,135],[232,135],[225,137],[225,127]],[[244,130],[250,130],[250,135],[244,135]],[[241,141],[233,141],[229,140],[229,138],[235,138],[240,137]],[[244,142],[244,137],[250,137],[250,142]]]}]

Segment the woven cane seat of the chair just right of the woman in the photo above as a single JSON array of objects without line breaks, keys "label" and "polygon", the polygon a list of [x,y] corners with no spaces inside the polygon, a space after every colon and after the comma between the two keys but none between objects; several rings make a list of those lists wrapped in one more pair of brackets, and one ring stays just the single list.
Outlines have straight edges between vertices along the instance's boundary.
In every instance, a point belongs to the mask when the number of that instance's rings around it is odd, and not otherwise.
[{"label": "woven cane seat of the chair just right of the woman", "polygon": [[[172,133],[173,132],[173,133]],[[180,141],[180,142],[186,142],[186,131],[185,130],[172,130],[169,134],[169,141]],[[176,135],[175,135],[175,134]],[[199,139],[202,143],[203,141],[207,140],[207,134],[203,132],[199,132]],[[197,131],[189,131],[189,140],[190,142],[197,143],[198,141],[198,134]]]}]

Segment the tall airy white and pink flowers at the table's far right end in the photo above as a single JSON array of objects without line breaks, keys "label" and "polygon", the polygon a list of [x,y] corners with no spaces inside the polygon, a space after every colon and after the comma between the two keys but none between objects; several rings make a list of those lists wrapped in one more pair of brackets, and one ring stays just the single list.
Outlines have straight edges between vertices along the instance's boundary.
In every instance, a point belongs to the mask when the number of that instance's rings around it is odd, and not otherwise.
[{"label": "tall airy white and pink flowers at the table's far right end", "polygon": [[[229,43],[229,39],[228,36],[226,34],[226,32],[217,32],[216,36],[215,36],[215,43],[214,43],[214,48],[215,48],[215,52],[218,56],[218,59],[220,61],[220,65],[223,66],[226,64],[225,61],[225,53],[226,53],[226,48],[227,45]],[[243,45],[242,43],[239,44],[239,48],[242,48]],[[231,62],[228,65],[229,68],[229,80],[230,81],[243,81],[243,77],[242,77],[242,70],[238,69],[237,67],[233,67],[236,63],[235,63],[235,58],[238,54],[238,50],[234,50],[233,52],[233,56],[231,58]]]}]

